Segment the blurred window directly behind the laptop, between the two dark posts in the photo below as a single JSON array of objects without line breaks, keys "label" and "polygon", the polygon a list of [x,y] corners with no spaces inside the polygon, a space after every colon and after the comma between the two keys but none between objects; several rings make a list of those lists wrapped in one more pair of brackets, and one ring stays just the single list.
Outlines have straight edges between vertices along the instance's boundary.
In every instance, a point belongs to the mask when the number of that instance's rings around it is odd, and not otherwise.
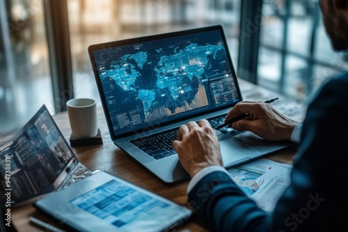
[{"label": "blurred window directly behind the laptop, between the two dark posts", "polygon": [[68,0],[75,97],[100,101],[87,52],[100,42],[223,24],[237,68],[239,1]]}]

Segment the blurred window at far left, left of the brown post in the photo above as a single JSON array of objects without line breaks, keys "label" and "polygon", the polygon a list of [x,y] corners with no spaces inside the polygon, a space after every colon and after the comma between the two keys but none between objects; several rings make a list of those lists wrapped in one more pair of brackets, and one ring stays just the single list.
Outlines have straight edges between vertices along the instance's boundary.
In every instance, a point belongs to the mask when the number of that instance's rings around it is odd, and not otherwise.
[{"label": "blurred window at far left, left of the brown post", "polygon": [[0,135],[54,113],[42,1],[0,0]]}]

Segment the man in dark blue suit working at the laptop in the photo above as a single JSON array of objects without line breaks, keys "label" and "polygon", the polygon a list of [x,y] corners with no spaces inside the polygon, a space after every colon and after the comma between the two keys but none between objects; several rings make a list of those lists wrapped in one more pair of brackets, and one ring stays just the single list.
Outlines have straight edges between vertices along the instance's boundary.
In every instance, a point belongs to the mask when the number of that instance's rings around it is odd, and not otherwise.
[{"label": "man in dark blue suit working at the laptop", "polygon": [[[324,25],[335,50],[348,49],[348,1],[320,0]],[[267,140],[299,140],[291,184],[267,213],[244,194],[221,167],[221,151],[207,120],[180,126],[173,142],[192,179],[189,204],[212,231],[347,231],[348,73],[319,89],[302,123],[280,115],[270,104],[238,103],[226,120]],[[303,127],[302,127],[303,125]],[[301,138],[296,138],[301,135]],[[231,154],[232,156],[233,154]]]}]

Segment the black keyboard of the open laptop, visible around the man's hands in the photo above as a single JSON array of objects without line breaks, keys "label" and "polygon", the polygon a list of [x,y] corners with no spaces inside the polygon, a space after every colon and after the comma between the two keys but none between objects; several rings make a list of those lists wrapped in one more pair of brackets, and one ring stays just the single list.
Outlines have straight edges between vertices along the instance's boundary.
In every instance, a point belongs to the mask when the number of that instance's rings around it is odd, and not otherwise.
[{"label": "black keyboard of the open laptop, visible around the man's hands", "polygon": [[[212,128],[215,128],[216,126],[219,126],[225,122],[225,117],[216,117],[214,119],[209,119],[208,121],[210,125],[212,125]],[[236,131],[226,126],[215,132],[218,140],[230,138],[242,133],[242,131]],[[161,158],[176,154],[176,151],[172,147],[172,142],[176,139],[177,129],[169,132],[166,131],[166,133],[161,133],[158,135],[152,135],[150,137],[138,138],[129,142],[132,142],[132,144],[144,151],[149,156],[152,156],[152,158],[159,160]]]}]

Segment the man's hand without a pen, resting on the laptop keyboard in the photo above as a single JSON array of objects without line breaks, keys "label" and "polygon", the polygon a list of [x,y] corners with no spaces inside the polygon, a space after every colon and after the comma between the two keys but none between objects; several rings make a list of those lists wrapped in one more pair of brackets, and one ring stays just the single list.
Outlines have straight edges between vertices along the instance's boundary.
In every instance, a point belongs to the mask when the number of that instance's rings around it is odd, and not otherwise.
[{"label": "man's hand without a pen, resting on the laptop keyboard", "polygon": [[205,167],[223,165],[216,133],[205,119],[180,126],[173,148],[191,177]]}]

